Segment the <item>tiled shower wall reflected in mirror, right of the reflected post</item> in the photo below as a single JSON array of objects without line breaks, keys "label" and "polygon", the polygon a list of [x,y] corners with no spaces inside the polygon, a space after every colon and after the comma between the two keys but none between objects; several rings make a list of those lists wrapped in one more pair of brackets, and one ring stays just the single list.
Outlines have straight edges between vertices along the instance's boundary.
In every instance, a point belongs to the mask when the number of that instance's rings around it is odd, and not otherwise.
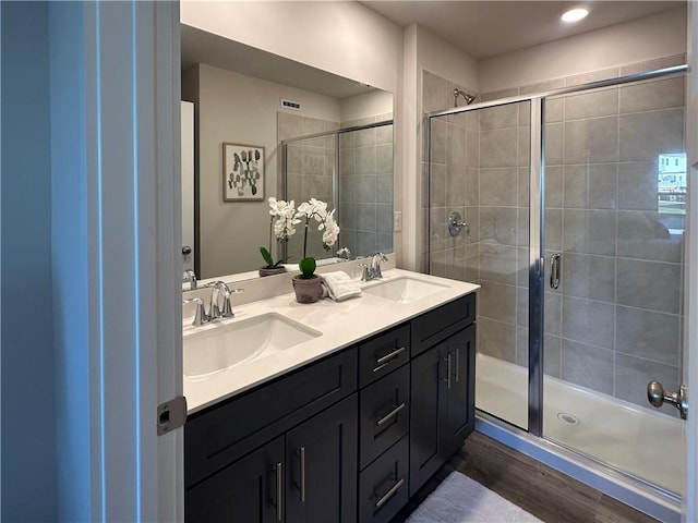
[{"label": "tiled shower wall reflected in mirror, right of the reflected post", "polygon": [[[381,114],[341,127],[392,120]],[[393,252],[393,125],[339,135],[339,243],[352,255]]]}]

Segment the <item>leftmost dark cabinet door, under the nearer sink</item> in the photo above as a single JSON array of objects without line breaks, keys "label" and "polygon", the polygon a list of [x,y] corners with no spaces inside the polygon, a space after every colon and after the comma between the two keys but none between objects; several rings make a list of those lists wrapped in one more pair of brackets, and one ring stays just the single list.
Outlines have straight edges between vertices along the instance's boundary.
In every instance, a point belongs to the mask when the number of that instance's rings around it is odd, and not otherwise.
[{"label": "leftmost dark cabinet door, under the nearer sink", "polygon": [[277,514],[282,515],[277,504],[284,504],[282,463],[281,436],[186,490],[185,521],[277,521]]}]

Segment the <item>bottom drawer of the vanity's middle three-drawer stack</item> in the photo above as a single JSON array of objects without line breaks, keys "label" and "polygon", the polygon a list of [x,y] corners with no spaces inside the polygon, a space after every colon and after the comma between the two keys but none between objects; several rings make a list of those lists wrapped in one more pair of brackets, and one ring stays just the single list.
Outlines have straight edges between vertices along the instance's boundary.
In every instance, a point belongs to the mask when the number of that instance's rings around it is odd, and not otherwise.
[{"label": "bottom drawer of the vanity's middle three-drawer stack", "polygon": [[407,503],[409,436],[390,447],[359,476],[359,521],[383,523]]}]

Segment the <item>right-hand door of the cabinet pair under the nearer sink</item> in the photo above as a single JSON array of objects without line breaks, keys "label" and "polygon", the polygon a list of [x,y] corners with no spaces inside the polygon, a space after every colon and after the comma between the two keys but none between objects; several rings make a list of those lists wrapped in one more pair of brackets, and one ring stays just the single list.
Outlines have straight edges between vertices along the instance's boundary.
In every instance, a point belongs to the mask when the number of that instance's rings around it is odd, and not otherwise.
[{"label": "right-hand door of the cabinet pair under the nearer sink", "polygon": [[357,520],[357,419],[352,394],[286,434],[286,521]]}]

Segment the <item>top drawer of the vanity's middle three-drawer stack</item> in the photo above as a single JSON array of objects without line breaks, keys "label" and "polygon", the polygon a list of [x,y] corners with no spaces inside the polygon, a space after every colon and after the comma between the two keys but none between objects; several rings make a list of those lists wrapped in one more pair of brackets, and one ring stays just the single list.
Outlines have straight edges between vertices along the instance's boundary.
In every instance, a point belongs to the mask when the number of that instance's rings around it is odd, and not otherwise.
[{"label": "top drawer of the vanity's middle three-drawer stack", "polygon": [[410,326],[405,324],[359,345],[359,386],[375,381],[410,360]]}]

